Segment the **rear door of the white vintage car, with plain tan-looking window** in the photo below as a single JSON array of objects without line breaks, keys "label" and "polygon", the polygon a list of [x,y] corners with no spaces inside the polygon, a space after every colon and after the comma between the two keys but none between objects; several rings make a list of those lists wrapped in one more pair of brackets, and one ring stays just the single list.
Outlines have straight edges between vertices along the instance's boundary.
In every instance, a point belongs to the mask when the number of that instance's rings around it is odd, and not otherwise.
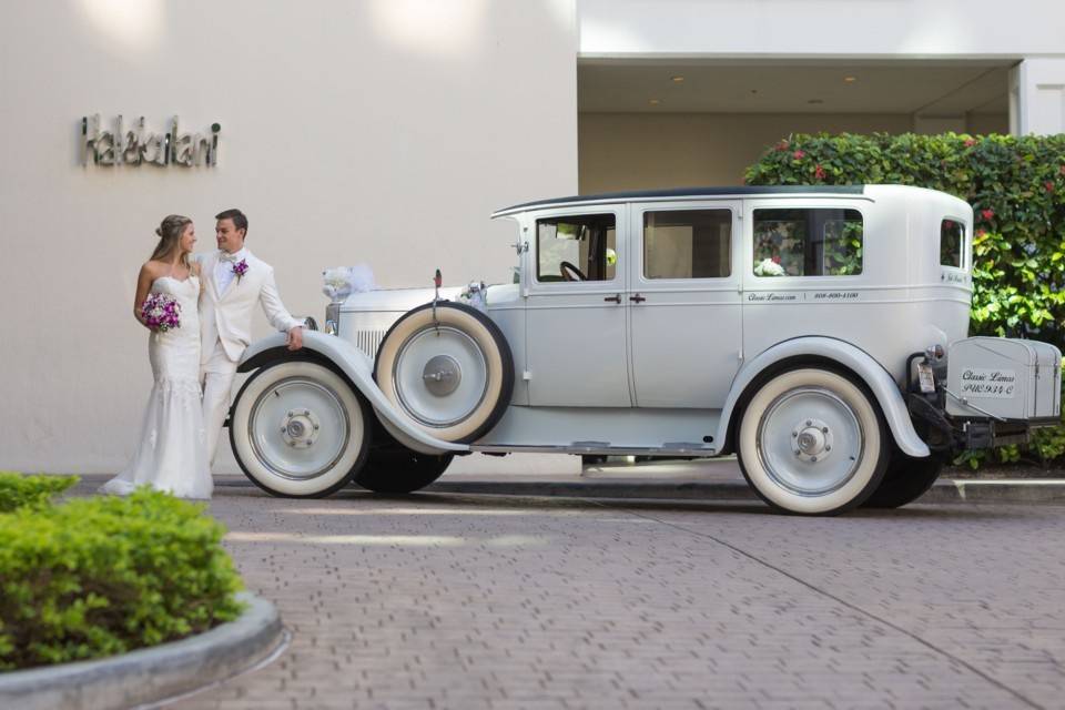
[{"label": "rear door of the white vintage car, with plain tan-looking window", "polygon": [[635,406],[720,408],[742,363],[741,202],[630,209]]}]

